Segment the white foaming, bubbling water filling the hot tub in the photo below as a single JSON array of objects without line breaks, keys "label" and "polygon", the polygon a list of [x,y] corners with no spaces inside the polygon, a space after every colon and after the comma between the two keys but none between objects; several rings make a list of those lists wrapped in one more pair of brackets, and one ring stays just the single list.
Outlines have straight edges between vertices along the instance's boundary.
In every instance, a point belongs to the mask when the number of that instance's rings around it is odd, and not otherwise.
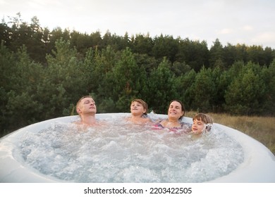
[{"label": "white foaming, bubbling water filling the hot tub", "polygon": [[212,127],[202,136],[133,125],[123,117],[101,127],[56,122],[26,132],[19,143],[24,163],[68,182],[207,182],[243,163],[243,149]]}]

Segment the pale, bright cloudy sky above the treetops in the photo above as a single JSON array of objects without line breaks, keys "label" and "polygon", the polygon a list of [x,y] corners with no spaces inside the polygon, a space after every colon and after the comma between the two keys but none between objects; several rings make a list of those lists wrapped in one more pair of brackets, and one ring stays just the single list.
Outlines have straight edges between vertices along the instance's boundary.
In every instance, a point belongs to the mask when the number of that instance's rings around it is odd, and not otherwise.
[{"label": "pale, bright cloudy sky above the treetops", "polygon": [[0,0],[1,20],[21,15],[41,27],[124,36],[257,45],[275,49],[274,0]]}]

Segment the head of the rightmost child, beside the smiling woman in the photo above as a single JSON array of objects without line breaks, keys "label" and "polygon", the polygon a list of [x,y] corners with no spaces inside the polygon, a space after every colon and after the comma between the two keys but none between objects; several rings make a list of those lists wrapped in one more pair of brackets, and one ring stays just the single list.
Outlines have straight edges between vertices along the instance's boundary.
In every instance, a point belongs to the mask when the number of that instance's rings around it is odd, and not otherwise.
[{"label": "head of the rightmost child, beside the smiling woman", "polygon": [[212,117],[204,113],[198,113],[193,117],[192,132],[209,132],[213,125]]}]

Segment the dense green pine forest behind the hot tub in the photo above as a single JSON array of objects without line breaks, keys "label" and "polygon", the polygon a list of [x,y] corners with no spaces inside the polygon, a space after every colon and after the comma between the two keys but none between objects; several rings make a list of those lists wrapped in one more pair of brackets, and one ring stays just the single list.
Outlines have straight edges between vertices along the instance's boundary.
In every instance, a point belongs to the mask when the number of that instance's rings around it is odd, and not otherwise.
[{"label": "dense green pine forest behind the hot tub", "polygon": [[[98,113],[130,112],[142,98],[149,111],[167,113],[169,101],[186,111],[275,115],[275,50],[161,34],[49,30],[37,17],[0,23],[0,131],[76,115],[92,95]],[[273,120],[273,119],[272,119]]]}]

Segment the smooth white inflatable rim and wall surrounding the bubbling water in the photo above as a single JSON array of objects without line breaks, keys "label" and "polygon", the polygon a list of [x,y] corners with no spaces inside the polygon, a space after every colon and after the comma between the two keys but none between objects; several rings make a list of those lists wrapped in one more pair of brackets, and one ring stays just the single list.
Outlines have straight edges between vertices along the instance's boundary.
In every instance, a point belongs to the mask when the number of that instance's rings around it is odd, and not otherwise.
[{"label": "smooth white inflatable rim and wall surrounding the bubbling water", "polygon": [[[126,115],[126,113],[99,113],[97,114],[97,118],[104,119],[106,117],[117,117],[119,115]],[[159,115],[159,117],[166,117],[166,115]],[[49,125],[56,121],[73,122],[77,120],[77,118],[78,116],[67,116],[37,122],[2,137],[0,139],[0,182],[66,182],[61,179],[49,177],[37,170],[30,169],[27,165],[24,165],[23,160],[16,160],[14,155],[18,154],[16,152],[16,145],[20,140],[20,136],[22,136],[26,130],[28,132],[38,132],[41,129],[49,127]],[[184,117],[184,121],[192,123],[190,117]],[[236,139],[236,141],[243,146],[245,158],[243,163],[241,163],[236,170],[233,170],[233,172],[224,177],[219,177],[210,182],[275,182],[275,156],[266,146],[236,129],[219,124],[214,125],[218,129],[222,129],[226,132],[228,136]],[[17,156],[16,158],[20,157]]]}]

